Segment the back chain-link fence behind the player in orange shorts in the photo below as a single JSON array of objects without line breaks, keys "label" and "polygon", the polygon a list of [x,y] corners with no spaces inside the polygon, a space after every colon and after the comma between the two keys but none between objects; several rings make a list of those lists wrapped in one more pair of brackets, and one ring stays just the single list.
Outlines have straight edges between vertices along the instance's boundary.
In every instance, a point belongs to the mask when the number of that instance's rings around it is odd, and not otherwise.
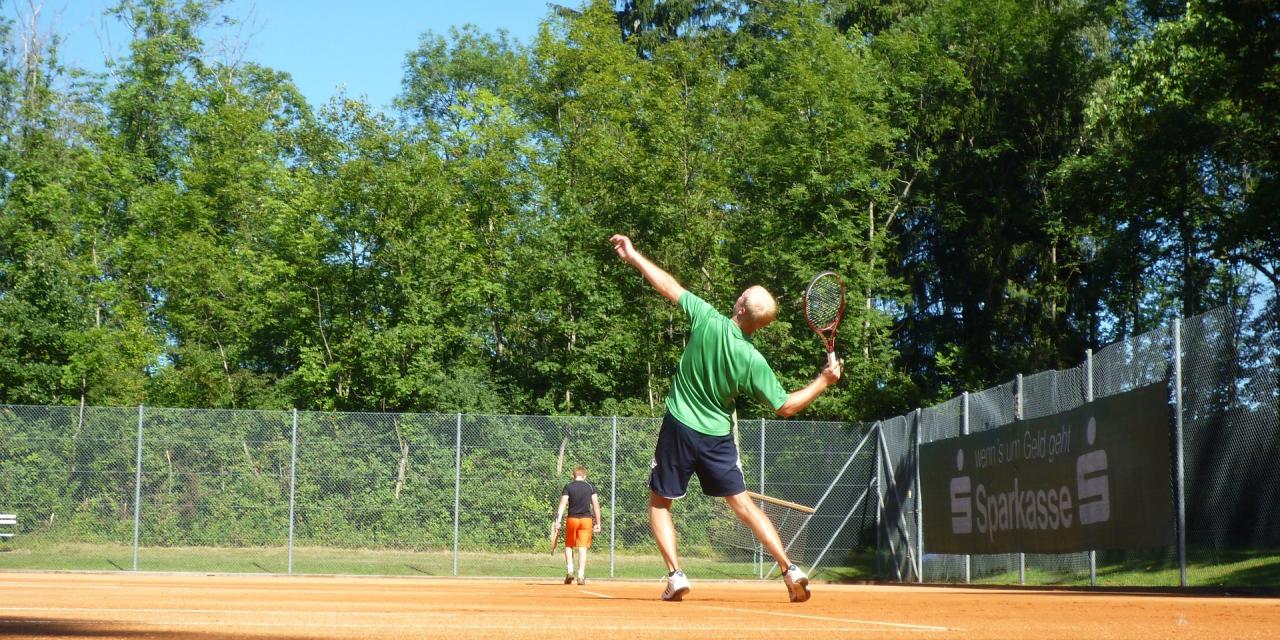
[{"label": "back chain-link fence behind the player in orange shorts", "polygon": [[[660,576],[648,475],[659,420],[0,407],[0,567],[554,576],[549,525],[572,468],[604,524],[595,575]],[[805,506],[799,562],[874,554],[865,428],[744,421],[753,490]],[[769,572],[696,477],[673,508],[705,577]],[[838,534],[838,535],[837,535]],[[872,541],[867,541],[870,535]],[[788,540],[790,541],[790,540]],[[540,550],[540,553],[539,553]],[[625,566],[617,566],[621,564]]]}]

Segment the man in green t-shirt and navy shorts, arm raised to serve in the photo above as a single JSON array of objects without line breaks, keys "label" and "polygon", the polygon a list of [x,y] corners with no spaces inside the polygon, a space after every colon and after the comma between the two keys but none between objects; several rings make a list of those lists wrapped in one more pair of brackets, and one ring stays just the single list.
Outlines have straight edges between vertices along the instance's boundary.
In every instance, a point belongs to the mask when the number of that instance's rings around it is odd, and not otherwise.
[{"label": "man in green t-shirt and navy shorts, arm raised to serve", "polygon": [[787,393],[751,344],[751,334],[777,316],[777,303],[768,291],[748,288],[733,303],[732,317],[724,317],[636,251],[631,238],[616,234],[609,242],[618,257],[636,268],[658,293],[680,305],[691,324],[689,344],[667,394],[667,415],[662,419],[649,474],[649,526],[668,571],[662,599],[681,600],[690,589],[676,556],[671,502],[685,495],[689,477],[696,472],[703,493],[724,498],[778,566],[786,567],[782,579],[791,602],[808,600],[809,576],[791,563],[773,522],[746,494],[730,412],[733,398],[748,393],[777,415],[794,416],[840,380],[841,364],[832,360],[808,385]]}]

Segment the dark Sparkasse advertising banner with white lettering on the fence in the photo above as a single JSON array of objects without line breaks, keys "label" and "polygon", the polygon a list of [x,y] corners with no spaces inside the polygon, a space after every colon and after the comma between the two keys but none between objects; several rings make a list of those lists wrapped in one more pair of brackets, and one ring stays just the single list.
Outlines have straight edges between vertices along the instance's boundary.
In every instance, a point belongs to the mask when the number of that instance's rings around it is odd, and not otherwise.
[{"label": "dark Sparkasse advertising banner with white lettering on the fence", "polygon": [[1169,384],[920,445],[924,549],[1069,553],[1174,541]]}]

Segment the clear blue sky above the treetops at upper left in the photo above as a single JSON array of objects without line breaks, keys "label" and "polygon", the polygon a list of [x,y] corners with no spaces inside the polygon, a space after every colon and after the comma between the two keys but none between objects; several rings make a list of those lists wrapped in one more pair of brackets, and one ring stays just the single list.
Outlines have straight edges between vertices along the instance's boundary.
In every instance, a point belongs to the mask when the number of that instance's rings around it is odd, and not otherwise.
[{"label": "clear blue sky above the treetops at upper left", "polygon": [[[116,0],[36,3],[44,5],[44,31],[65,38],[64,63],[102,70],[108,54],[125,52],[128,33],[102,18]],[[449,27],[470,23],[484,32],[506,29],[527,44],[548,12],[545,0],[230,0],[218,13],[239,24],[206,33],[206,44],[215,51],[243,50],[243,60],[288,72],[312,105],[344,86],[348,95],[385,108],[399,93],[404,55],[424,32],[448,35]],[[29,13],[28,0],[0,0],[6,18],[22,22]]]}]

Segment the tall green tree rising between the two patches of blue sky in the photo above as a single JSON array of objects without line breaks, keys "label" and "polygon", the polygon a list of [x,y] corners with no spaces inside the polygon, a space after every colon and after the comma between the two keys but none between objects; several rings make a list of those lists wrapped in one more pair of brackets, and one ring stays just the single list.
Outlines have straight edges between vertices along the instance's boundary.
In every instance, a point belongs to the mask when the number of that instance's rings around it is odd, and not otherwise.
[{"label": "tall green tree rising between the two patches of blue sky", "polygon": [[308,297],[292,276],[292,233],[308,197],[300,156],[310,119],[276,72],[207,59],[201,32],[219,3],[124,1],[134,35],[113,65],[108,136],[125,229],[128,287],[165,352],[151,401],[196,407],[288,406],[275,384],[296,369],[291,337]]}]

